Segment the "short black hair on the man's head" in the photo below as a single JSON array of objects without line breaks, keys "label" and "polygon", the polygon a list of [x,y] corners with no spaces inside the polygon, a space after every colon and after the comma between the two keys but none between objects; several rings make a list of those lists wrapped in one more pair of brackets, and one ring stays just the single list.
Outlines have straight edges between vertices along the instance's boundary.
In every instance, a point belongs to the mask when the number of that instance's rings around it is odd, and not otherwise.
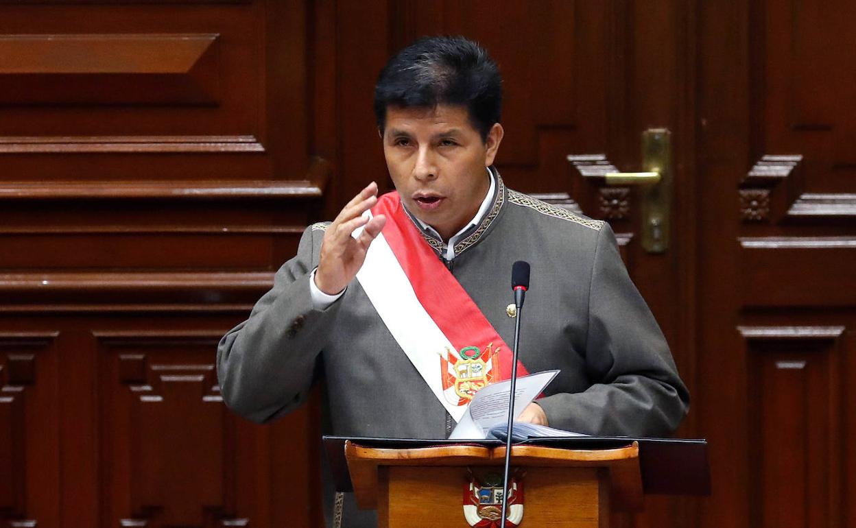
[{"label": "short black hair on the man's head", "polygon": [[386,127],[389,105],[467,107],[482,140],[502,112],[502,77],[479,44],[463,37],[424,37],[399,51],[381,70],[375,86],[377,128]]}]

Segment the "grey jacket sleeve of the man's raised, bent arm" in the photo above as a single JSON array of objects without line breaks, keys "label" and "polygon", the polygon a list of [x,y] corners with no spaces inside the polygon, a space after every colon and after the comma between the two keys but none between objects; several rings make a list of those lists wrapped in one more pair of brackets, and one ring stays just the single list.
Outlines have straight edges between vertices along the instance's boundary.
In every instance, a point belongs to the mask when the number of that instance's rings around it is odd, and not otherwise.
[{"label": "grey jacket sleeve of the man's raised, bent arm", "polygon": [[276,272],[274,287],[217,347],[223,400],[254,422],[294,410],[312,386],[326,329],[341,306],[334,302],[323,311],[312,307],[309,276],[318,262],[322,235],[318,228],[306,228],[297,255]]}]

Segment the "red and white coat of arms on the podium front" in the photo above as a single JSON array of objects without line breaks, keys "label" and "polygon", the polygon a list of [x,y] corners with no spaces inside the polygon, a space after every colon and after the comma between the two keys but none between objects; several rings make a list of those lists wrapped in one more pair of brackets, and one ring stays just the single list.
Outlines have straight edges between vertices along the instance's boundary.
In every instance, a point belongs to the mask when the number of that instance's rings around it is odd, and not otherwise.
[{"label": "red and white coat of arms on the podium front", "polygon": [[502,473],[488,473],[479,478],[470,473],[464,484],[464,517],[475,528],[514,528],[523,520],[523,478],[508,479],[508,519],[502,517]]}]

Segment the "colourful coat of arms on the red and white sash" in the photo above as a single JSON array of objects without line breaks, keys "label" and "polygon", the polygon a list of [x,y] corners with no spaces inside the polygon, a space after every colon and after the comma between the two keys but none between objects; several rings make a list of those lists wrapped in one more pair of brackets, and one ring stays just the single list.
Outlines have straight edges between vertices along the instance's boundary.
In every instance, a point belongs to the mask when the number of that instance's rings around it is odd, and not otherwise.
[{"label": "colourful coat of arms on the red and white sash", "polygon": [[500,379],[499,348],[490,343],[484,350],[463,347],[458,353],[449,348],[441,354],[440,371],[443,376],[443,395],[449,403],[467,405],[485,385]]}]

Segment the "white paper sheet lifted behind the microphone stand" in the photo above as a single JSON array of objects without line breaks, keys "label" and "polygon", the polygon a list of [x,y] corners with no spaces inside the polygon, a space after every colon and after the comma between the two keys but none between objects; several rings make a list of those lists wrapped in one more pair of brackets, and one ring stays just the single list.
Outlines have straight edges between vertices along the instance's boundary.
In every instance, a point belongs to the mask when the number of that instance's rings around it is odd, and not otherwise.
[{"label": "white paper sheet lifted behind the microphone stand", "polygon": [[[517,378],[517,386],[514,388],[514,418],[520,416],[520,412],[541,394],[558,373],[559,371],[543,371]],[[487,436],[491,427],[508,424],[510,393],[510,379],[479,389],[449,439],[481,440]]]}]

